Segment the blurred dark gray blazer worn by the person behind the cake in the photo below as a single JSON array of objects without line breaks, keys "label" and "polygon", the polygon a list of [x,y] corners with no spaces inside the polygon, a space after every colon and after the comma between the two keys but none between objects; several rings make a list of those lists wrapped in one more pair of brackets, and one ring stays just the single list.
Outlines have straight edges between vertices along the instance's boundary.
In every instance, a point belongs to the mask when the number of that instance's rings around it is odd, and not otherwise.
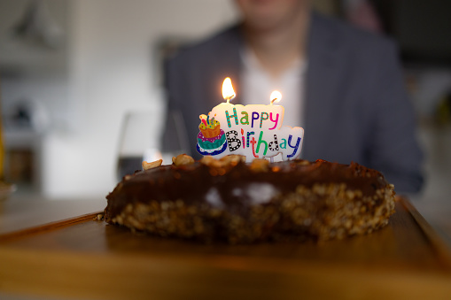
[{"label": "blurred dark gray blazer worn by the person behind the cake", "polygon": [[[398,193],[418,191],[423,154],[393,42],[315,12],[309,30],[301,158],[354,161],[384,173]],[[225,77],[237,93],[233,104],[240,103],[242,46],[240,27],[231,27],[167,62],[168,111],[195,158],[198,116],[223,102]],[[163,135],[169,150],[176,140],[170,123]]]}]

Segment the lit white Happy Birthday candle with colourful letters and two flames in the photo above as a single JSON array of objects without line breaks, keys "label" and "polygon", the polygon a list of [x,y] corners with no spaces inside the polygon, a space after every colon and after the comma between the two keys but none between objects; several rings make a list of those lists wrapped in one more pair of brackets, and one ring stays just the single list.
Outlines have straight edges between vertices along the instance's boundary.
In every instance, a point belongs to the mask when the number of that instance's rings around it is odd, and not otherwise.
[{"label": "lit white Happy Birthday candle with colourful letters and two flames", "polygon": [[298,158],[302,149],[304,129],[282,126],[284,106],[275,105],[282,98],[278,91],[269,97],[270,104],[230,104],[235,97],[231,81],[222,84],[225,103],[214,106],[208,115],[200,115],[197,150],[202,155],[222,158],[239,154],[246,161],[253,158]]}]

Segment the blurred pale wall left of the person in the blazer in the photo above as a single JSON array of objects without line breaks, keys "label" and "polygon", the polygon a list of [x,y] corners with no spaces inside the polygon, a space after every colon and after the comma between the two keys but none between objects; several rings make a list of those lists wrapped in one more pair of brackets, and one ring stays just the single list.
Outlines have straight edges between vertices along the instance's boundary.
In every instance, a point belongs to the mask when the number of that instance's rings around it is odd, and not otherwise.
[{"label": "blurred pale wall left of the person in the blazer", "polygon": [[158,138],[159,43],[197,40],[236,12],[224,0],[38,1],[60,32],[50,47],[12,33],[32,3],[0,1],[3,113],[18,119],[15,106],[24,103],[27,113],[44,116],[31,127],[6,124],[6,147],[32,149],[29,188],[51,197],[105,196],[117,181],[125,113],[149,111],[156,129],[150,138]]}]

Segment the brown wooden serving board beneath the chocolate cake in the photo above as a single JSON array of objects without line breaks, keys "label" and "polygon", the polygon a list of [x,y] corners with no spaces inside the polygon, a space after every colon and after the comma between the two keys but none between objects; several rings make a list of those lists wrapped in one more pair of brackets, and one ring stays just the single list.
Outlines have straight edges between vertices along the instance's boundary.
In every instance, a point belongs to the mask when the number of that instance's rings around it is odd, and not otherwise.
[{"label": "brown wooden serving board beneath the chocolate cake", "polygon": [[450,299],[451,255],[405,199],[345,240],[205,245],[97,221],[0,235],[0,296],[89,299]]}]

